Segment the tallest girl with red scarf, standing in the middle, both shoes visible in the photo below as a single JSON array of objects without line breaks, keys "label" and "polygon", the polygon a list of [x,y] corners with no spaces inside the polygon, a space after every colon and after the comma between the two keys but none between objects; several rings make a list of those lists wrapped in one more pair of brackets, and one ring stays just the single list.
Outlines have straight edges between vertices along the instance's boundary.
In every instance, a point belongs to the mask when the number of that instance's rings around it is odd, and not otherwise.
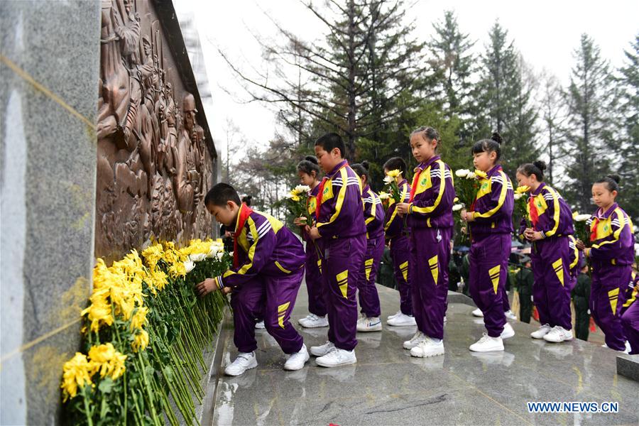
[{"label": "tallest girl with red scarf, standing in the middle, both shoes visible", "polygon": [[420,127],[410,134],[410,148],[419,165],[408,202],[397,204],[410,226],[410,279],[417,333],[404,342],[411,356],[444,354],[444,314],[448,294],[448,263],[455,198],[452,172],[439,155],[439,133]]}]

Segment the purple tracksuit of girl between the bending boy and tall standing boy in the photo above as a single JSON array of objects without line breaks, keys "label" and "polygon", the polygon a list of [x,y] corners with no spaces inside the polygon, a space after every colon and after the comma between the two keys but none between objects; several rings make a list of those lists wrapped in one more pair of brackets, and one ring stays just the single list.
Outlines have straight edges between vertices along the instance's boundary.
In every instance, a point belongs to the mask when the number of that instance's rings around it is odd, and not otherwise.
[{"label": "purple tracksuit of girl between the bending boy and tall standing boy", "polygon": [[[317,207],[317,192],[320,185],[317,185],[310,192],[308,197],[308,212],[311,217],[315,217]],[[318,253],[318,247],[313,240],[302,232],[306,241],[306,289],[308,293],[308,312],[324,317],[326,315],[326,304],[324,302],[324,285],[322,284],[322,261]]]}]

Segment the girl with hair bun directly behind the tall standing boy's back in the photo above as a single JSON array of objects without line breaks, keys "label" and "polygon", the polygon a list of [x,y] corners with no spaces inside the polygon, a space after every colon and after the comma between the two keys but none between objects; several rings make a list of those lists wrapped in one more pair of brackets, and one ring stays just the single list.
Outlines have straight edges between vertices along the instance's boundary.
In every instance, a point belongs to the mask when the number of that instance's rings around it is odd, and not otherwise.
[{"label": "girl with hair bun directly behind the tall standing boy's back", "polygon": [[379,332],[382,329],[379,318],[381,306],[375,278],[384,253],[384,209],[378,195],[368,185],[368,161],[351,165],[351,168],[361,180],[361,197],[364,202],[364,223],[366,224],[366,254],[364,264],[357,276],[361,312],[357,320],[357,331]]}]

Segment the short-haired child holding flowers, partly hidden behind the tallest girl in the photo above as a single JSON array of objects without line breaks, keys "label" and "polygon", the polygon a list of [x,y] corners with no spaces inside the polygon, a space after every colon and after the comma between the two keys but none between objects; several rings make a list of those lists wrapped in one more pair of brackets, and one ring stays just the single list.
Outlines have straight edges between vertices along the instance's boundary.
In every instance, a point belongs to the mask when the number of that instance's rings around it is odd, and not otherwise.
[{"label": "short-haired child holding flowers, partly hidden behind the tallest girl", "polygon": [[[395,183],[400,190],[400,201],[408,202],[410,198],[410,185],[406,180],[406,162],[403,158],[393,157],[384,164],[384,173],[387,177],[395,179]],[[393,171],[396,173],[393,178]],[[395,279],[399,287],[400,293],[400,310],[388,317],[386,324],[400,327],[415,325],[415,317],[413,317],[413,297],[410,290],[410,278],[408,277],[408,226],[405,226],[404,220],[397,213],[397,205],[392,198],[389,198],[389,205],[386,209],[386,219],[384,231],[386,232],[386,240],[388,247],[391,249],[391,258],[393,259],[393,269],[395,271]]]}]

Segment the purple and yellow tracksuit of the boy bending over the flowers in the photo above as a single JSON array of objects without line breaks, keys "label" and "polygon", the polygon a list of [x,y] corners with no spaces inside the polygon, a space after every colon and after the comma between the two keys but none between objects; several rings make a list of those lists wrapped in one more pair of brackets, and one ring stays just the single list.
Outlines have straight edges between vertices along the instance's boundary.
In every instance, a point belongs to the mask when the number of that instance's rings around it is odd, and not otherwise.
[{"label": "purple and yellow tracksuit of the boy bending over the flowers", "polygon": [[300,351],[302,337],[289,320],[304,275],[302,243],[278,219],[255,211],[237,238],[239,266],[217,277],[219,285],[233,288],[235,346],[241,352],[257,349],[255,319],[264,318],[285,354]]}]

